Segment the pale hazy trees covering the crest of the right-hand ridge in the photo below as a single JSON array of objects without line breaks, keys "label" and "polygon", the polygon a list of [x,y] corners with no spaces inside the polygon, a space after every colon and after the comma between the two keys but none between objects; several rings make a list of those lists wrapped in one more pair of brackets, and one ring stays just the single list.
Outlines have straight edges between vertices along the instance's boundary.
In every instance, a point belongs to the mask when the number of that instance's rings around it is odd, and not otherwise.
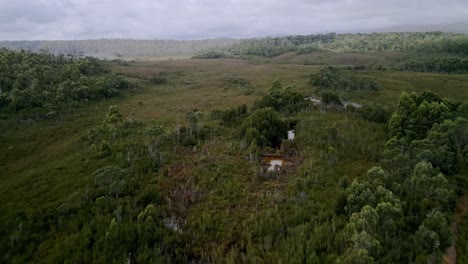
[{"label": "pale hazy trees covering the crest of the right-hand ridge", "polygon": [[217,52],[225,56],[258,55],[275,57],[325,50],[333,52],[404,52],[468,54],[468,36],[443,32],[318,34],[245,39]]}]

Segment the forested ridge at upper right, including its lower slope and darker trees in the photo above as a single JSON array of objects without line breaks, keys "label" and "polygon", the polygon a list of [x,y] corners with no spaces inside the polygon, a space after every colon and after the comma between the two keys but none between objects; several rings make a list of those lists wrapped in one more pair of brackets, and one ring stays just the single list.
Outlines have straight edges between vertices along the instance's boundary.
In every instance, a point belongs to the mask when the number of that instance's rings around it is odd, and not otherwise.
[{"label": "forested ridge at upper right, including its lower slope and darker trees", "polygon": [[[468,71],[468,36],[444,32],[373,33],[373,34],[319,34],[286,37],[245,39],[228,47],[200,52],[194,58],[255,57],[273,59],[284,54],[318,57],[303,60],[309,65],[321,65],[321,57],[343,55],[338,64],[360,69],[401,70],[419,72],[466,73]],[[360,54],[360,55],[359,55]],[[360,58],[354,62],[346,56]],[[374,56],[366,63],[365,56]],[[314,60],[320,58],[320,62]],[[348,63],[346,61],[349,61]],[[386,62],[385,62],[386,61]],[[277,62],[282,62],[278,59]],[[298,61],[301,63],[301,61]],[[294,63],[297,63],[294,61]],[[332,63],[325,63],[332,64]]]}]

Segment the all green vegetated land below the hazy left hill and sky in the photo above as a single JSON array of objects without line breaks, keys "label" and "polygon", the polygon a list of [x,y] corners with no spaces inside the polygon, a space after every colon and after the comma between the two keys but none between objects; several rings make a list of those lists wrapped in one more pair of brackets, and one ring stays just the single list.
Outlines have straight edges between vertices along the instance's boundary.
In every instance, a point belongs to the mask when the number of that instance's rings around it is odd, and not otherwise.
[{"label": "all green vegetated land below the hazy left hill and sky", "polygon": [[0,49],[0,263],[468,261],[466,35],[193,55]]}]

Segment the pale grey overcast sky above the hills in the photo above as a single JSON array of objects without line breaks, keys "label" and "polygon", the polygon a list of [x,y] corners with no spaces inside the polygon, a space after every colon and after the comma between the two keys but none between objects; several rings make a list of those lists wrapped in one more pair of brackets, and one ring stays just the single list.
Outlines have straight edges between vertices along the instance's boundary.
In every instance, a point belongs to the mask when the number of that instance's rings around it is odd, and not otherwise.
[{"label": "pale grey overcast sky above the hills", "polygon": [[256,37],[468,21],[468,0],[0,0],[0,39]]}]

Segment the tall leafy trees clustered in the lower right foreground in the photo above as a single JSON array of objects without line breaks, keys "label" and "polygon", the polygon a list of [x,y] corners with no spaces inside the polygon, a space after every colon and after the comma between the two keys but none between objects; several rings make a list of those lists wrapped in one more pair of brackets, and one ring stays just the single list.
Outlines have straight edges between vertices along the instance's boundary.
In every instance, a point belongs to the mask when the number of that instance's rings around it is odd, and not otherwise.
[{"label": "tall leafy trees clustered in the lower right foreground", "polygon": [[402,94],[382,167],[355,180],[339,206],[350,216],[345,263],[441,261],[466,186],[466,109],[432,92]]}]

